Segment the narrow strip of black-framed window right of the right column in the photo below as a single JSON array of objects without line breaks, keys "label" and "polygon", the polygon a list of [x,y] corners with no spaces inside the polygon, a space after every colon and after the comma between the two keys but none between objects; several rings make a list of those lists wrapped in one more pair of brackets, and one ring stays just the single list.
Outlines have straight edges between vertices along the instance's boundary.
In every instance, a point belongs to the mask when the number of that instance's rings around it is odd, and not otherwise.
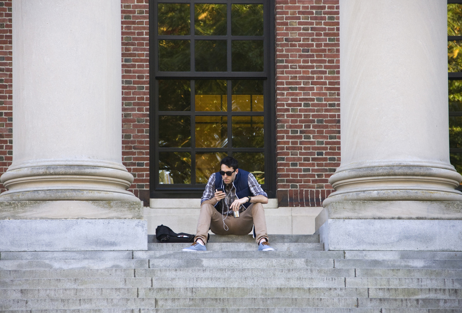
[{"label": "narrow strip of black-framed window right of the right column", "polygon": [[448,79],[450,162],[462,174],[462,0],[448,0]]}]

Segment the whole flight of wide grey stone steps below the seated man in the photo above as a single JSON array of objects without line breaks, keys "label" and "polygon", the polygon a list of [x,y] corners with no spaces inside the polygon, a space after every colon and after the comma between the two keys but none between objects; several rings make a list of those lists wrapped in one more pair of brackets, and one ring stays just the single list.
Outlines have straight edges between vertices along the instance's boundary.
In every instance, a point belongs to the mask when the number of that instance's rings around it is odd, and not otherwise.
[{"label": "whole flight of wide grey stone steps below the seated man", "polygon": [[462,313],[462,253],[269,240],[276,251],[256,251],[250,235],[211,235],[207,252],[155,242],[148,251],[1,252],[0,312]]}]

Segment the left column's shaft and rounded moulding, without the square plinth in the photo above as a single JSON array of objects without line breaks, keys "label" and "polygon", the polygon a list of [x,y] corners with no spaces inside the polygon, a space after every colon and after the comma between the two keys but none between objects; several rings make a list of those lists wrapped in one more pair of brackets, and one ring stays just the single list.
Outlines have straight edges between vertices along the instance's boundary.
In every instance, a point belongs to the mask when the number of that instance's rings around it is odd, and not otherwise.
[{"label": "left column's shaft and rounded moulding, without the square plinth", "polygon": [[15,0],[13,163],[0,200],[138,200],[122,165],[120,3]]}]

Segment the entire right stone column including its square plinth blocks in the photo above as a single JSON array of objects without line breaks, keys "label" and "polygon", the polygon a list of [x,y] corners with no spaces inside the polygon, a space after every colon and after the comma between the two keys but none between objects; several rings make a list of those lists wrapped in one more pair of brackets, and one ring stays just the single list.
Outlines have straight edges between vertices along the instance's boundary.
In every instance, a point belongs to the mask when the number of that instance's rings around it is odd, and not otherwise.
[{"label": "entire right stone column including its square plinth blocks", "polygon": [[340,123],[336,191],[320,229],[329,249],[436,251],[442,229],[462,236],[446,1],[340,0]]}]

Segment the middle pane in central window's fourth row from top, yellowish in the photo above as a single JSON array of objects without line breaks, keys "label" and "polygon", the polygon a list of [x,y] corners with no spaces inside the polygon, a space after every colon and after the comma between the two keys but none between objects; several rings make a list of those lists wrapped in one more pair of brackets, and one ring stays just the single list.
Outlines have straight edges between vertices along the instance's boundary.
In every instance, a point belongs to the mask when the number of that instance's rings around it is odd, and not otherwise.
[{"label": "middle pane in central window's fourth row from top, yellowish", "polygon": [[228,144],[226,116],[196,116],[196,148],[224,148]]}]

